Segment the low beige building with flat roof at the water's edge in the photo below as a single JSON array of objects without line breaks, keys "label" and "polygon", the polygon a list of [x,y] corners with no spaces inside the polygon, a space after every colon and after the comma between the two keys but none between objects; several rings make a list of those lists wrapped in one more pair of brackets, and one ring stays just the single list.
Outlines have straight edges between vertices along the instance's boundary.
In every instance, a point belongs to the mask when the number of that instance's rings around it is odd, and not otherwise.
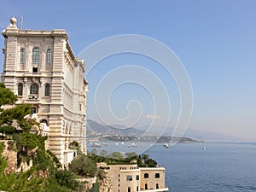
[{"label": "low beige building with flat roof at the water's edge", "polygon": [[102,189],[102,191],[164,192],[169,190],[166,187],[164,167],[138,167],[137,164],[108,165],[106,163],[98,163],[97,167],[105,170],[108,177],[108,184],[106,184],[108,189]]}]

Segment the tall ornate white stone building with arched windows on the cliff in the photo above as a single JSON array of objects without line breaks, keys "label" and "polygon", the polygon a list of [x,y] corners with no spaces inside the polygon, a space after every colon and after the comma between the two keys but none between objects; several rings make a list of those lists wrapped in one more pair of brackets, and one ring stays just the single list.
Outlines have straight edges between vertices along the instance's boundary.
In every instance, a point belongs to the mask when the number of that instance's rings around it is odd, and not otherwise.
[{"label": "tall ornate white stone building with arched windows on the cliff", "polygon": [[86,153],[84,61],[73,53],[63,29],[20,30],[15,18],[3,30],[2,82],[18,96],[16,104],[32,105],[32,117],[49,135],[48,148],[62,165],[76,154],[73,140]]}]

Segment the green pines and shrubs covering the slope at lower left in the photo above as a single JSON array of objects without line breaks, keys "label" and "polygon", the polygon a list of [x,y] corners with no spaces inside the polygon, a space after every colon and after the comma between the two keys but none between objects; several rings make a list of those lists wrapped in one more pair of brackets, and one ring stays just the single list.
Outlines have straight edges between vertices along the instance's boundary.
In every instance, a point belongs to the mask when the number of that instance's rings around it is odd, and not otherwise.
[{"label": "green pines and shrubs covering the slope at lower left", "polygon": [[[13,105],[17,96],[0,84],[0,134],[9,142],[0,142],[0,190],[2,191],[79,191],[79,183],[74,179],[73,172],[61,170],[60,163],[50,151],[45,151],[44,141],[47,137],[31,134],[32,125],[38,125],[32,120],[24,119],[31,113],[29,105],[19,105],[12,108],[3,106]],[[20,125],[17,131],[13,123]],[[5,146],[8,143],[8,146]],[[26,146],[24,150],[23,146]],[[20,163],[30,163],[32,167],[26,172],[6,172],[8,156],[4,152],[17,153],[17,166]]]}]

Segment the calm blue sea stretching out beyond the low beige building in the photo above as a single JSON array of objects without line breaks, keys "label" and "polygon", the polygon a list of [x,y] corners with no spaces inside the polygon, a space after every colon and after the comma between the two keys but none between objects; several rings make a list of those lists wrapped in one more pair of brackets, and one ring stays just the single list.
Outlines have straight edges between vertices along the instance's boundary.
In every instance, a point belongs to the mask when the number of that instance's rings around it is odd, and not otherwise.
[{"label": "calm blue sea stretching out beyond the low beige building", "polygon": [[[166,186],[172,192],[256,191],[256,143],[108,143],[96,148],[149,154],[166,167]],[[143,146],[143,147],[142,147]],[[89,151],[93,148],[88,144]]]}]

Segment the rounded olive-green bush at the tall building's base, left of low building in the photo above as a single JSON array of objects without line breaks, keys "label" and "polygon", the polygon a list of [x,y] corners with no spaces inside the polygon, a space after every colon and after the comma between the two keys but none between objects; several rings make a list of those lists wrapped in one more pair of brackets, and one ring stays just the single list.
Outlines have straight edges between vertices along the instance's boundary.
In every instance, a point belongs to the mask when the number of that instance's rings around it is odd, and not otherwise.
[{"label": "rounded olive-green bush at the tall building's base, left of low building", "polygon": [[68,166],[69,170],[79,176],[95,177],[97,168],[95,163],[90,160],[85,154],[79,155]]}]

